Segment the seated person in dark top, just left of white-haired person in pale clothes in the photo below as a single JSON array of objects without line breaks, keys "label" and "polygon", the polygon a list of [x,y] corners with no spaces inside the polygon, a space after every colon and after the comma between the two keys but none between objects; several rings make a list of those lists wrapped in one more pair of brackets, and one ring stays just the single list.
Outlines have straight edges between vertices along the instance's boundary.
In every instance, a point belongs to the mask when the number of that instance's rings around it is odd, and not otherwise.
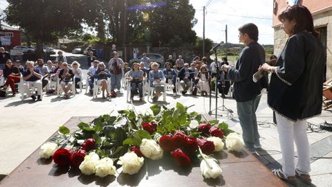
[{"label": "seated person in dark top, just left of white-haired person in pale clothes", "polygon": [[68,68],[67,62],[62,63],[62,70],[59,72],[60,84],[64,91],[64,98],[69,98],[68,91],[71,90],[74,73]]}]

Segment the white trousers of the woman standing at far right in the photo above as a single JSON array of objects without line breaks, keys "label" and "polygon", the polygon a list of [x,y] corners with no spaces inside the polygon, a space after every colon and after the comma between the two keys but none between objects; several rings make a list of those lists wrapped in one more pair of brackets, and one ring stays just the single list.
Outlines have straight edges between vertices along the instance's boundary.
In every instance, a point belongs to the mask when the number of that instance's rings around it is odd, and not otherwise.
[{"label": "white trousers of the woman standing at far right", "polygon": [[282,170],[287,176],[295,175],[294,141],[297,148],[297,170],[310,172],[309,142],[306,133],[306,120],[290,121],[275,114],[278,125],[280,147],[282,149]]}]

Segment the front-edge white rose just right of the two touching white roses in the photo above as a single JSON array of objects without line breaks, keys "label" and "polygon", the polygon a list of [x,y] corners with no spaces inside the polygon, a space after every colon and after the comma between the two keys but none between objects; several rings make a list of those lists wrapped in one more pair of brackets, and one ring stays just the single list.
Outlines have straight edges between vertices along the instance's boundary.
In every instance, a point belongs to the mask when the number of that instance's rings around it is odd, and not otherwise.
[{"label": "front-edge white rose just right of the two touching white roses", "polygon": [[122,172],[133,175],[143,166],[144,158],[138,157],[135,152],[127,152],[119,158],[118,164],[122,165]]}]

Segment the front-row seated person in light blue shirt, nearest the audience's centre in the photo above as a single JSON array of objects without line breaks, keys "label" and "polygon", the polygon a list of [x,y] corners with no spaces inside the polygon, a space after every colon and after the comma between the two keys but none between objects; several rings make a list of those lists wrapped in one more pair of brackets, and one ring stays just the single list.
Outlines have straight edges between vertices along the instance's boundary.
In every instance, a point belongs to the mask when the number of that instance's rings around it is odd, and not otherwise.
[{"label": "front-row seated person in light blue shirt, nearest the audience's centre", "polygon": [[165,78],[164,73],[161,70],[158,70],[159,64],[157,62],[154,62],[152,64],[152,70],[149,71],[149,82],[150,86],[154,87],[156,90],[156,94],[152,98],[152,100],[155,102],[158,100],[159,96],[161,95],[161,91],[164,90],[165,85],[162,84],[162,80]]}]

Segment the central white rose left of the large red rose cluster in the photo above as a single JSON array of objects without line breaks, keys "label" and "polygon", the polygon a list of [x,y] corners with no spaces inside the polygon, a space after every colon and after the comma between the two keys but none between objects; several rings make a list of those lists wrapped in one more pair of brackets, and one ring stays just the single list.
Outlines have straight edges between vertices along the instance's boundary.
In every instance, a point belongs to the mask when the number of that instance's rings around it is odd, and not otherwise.
[{"label": "central white rose left of the large red rose cluster", "polygon": [[140,152],[152,160],[158,160],[163,158],[163,149],[154,140],[142,139],[140,144]]}]

